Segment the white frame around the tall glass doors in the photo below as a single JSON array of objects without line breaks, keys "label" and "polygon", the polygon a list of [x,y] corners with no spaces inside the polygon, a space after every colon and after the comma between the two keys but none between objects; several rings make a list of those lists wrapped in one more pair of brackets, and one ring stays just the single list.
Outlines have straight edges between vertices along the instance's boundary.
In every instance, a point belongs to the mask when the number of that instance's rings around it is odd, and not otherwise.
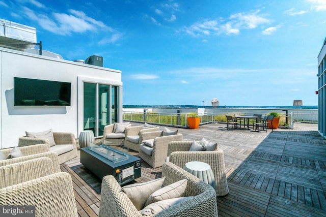
[{"label": "white frame around the tall glass doors", "polygon": [[112,115],[111,115],[111,106],[112,106],[112,96],[111,96],[111,88],[114,86],[118,86],[118,117],[117,119],[119,121],[122,121],[122,82],[120,81],[112,81],[112,80],[104,80],[104,79],[96,79],[96,78],[90,78],[90,77],[83,77],[83,76],[78,76],[77,77],[77,130],[78,130],[78,135],[80,132],[84,131],[84,83],[95,83],[96,84],[96,121],[95,121],[95,137],[102,137],[98,136],[99,132],[99,98],[98,98],[98,85],[99,84],[104,84],[104,85],[109,85],[110,86],[110,96],[109,96],[109,102],[107,106],[107,110],[110,109],[110,112],[107,111],[107,114],[109,115],[108,117],[108,123],[112,123]]}]

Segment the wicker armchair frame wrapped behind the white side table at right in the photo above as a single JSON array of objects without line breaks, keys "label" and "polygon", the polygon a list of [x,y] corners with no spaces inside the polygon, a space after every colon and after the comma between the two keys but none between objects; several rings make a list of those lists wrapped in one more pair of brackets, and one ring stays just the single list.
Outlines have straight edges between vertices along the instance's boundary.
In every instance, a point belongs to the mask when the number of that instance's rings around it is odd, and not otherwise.
[{"label": "wicker armchair frame wrapped behind the white side table at right", "polygon": [[183,168],[187,162],[200,161],[209,164],[215,177],[216,195],[225,196],[229,193],[226,179],[224,152],[217,147],[213,151],[189,151],[193,141],[172,141],[169,143],[169,162]]}]

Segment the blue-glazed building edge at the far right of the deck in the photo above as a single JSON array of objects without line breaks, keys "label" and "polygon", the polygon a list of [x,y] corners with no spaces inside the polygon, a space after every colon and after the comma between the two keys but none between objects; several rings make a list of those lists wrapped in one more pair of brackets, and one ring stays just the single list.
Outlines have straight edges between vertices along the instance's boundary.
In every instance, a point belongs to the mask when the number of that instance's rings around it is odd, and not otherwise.
[{"label": "blue-glazed building edge at the far right of the deck", "polygon": [[326,39],[318,54],[318,132],[326,138]]}]

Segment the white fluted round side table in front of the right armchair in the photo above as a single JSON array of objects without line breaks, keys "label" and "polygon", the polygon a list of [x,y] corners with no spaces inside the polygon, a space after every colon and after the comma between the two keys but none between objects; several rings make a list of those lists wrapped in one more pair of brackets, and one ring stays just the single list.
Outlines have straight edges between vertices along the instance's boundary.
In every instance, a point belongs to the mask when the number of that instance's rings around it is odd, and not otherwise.
[{"label": "white fluted round side table in front of the right armchair", "polygon": [[209,164],[199,161],[191,161],[186,163],[183,169],[216,189],[215,177]]}]

